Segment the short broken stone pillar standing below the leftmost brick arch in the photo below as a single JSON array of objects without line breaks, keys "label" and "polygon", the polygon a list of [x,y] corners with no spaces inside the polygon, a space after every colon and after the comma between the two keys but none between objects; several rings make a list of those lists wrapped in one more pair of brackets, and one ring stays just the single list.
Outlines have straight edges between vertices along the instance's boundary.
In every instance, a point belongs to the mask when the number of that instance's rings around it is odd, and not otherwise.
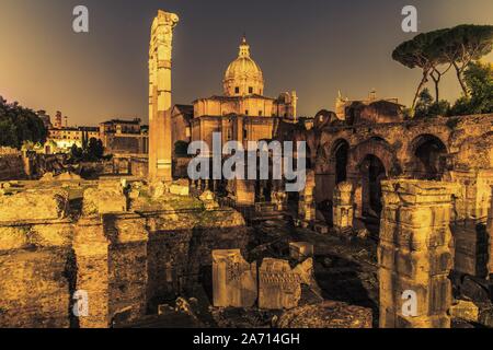
[{"label": "short broken stone pillar standing below the leftmost brick arch", "polygon": [[353,230],[353,185],[341,183],[334,190],[333,223],[337,233],[346,233]]}]

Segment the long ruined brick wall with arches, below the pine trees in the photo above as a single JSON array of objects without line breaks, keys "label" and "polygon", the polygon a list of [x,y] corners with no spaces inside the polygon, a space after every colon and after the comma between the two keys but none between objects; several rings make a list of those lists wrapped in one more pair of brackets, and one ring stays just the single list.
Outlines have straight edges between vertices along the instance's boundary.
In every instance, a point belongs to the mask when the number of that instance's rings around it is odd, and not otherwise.
[{"label": "long ruined brick wall with arches, below the pine trees", "polygon": [[[420,163],[416,148],[428,138],[445,147],[440,164],[458,168],[491,168],[491,124],[493,114],[462,117],[437,117],[433,120],[406,120],[404,122],[368,126],[329,125],[311,130],[297,130],[295,139],[306,140],[317,174],[317,202],[332,201],[337,177],[337,150],[347,144],[346,179],[358,185],[360,164],[368,154],[378,158],[388,177],[405,175],[421,178],[416,172]],[[291,137],[293,139],[293,137]],[[490,160],[490,162],[489,162]],[[437,177],[443,168],[436,168]]]}]

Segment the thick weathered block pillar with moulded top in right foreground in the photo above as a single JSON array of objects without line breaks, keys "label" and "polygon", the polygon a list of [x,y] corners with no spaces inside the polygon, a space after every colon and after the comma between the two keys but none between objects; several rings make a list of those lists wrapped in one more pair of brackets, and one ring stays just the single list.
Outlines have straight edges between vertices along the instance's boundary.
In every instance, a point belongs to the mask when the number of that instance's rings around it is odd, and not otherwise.
[{"label": "thick weathered block pillar with moulded top in right foreground", "polygon": [[[449,328],[450,183],[382,182],[378,246],[381,328]],[[415,306],[415,307],[414,307]]]}]

